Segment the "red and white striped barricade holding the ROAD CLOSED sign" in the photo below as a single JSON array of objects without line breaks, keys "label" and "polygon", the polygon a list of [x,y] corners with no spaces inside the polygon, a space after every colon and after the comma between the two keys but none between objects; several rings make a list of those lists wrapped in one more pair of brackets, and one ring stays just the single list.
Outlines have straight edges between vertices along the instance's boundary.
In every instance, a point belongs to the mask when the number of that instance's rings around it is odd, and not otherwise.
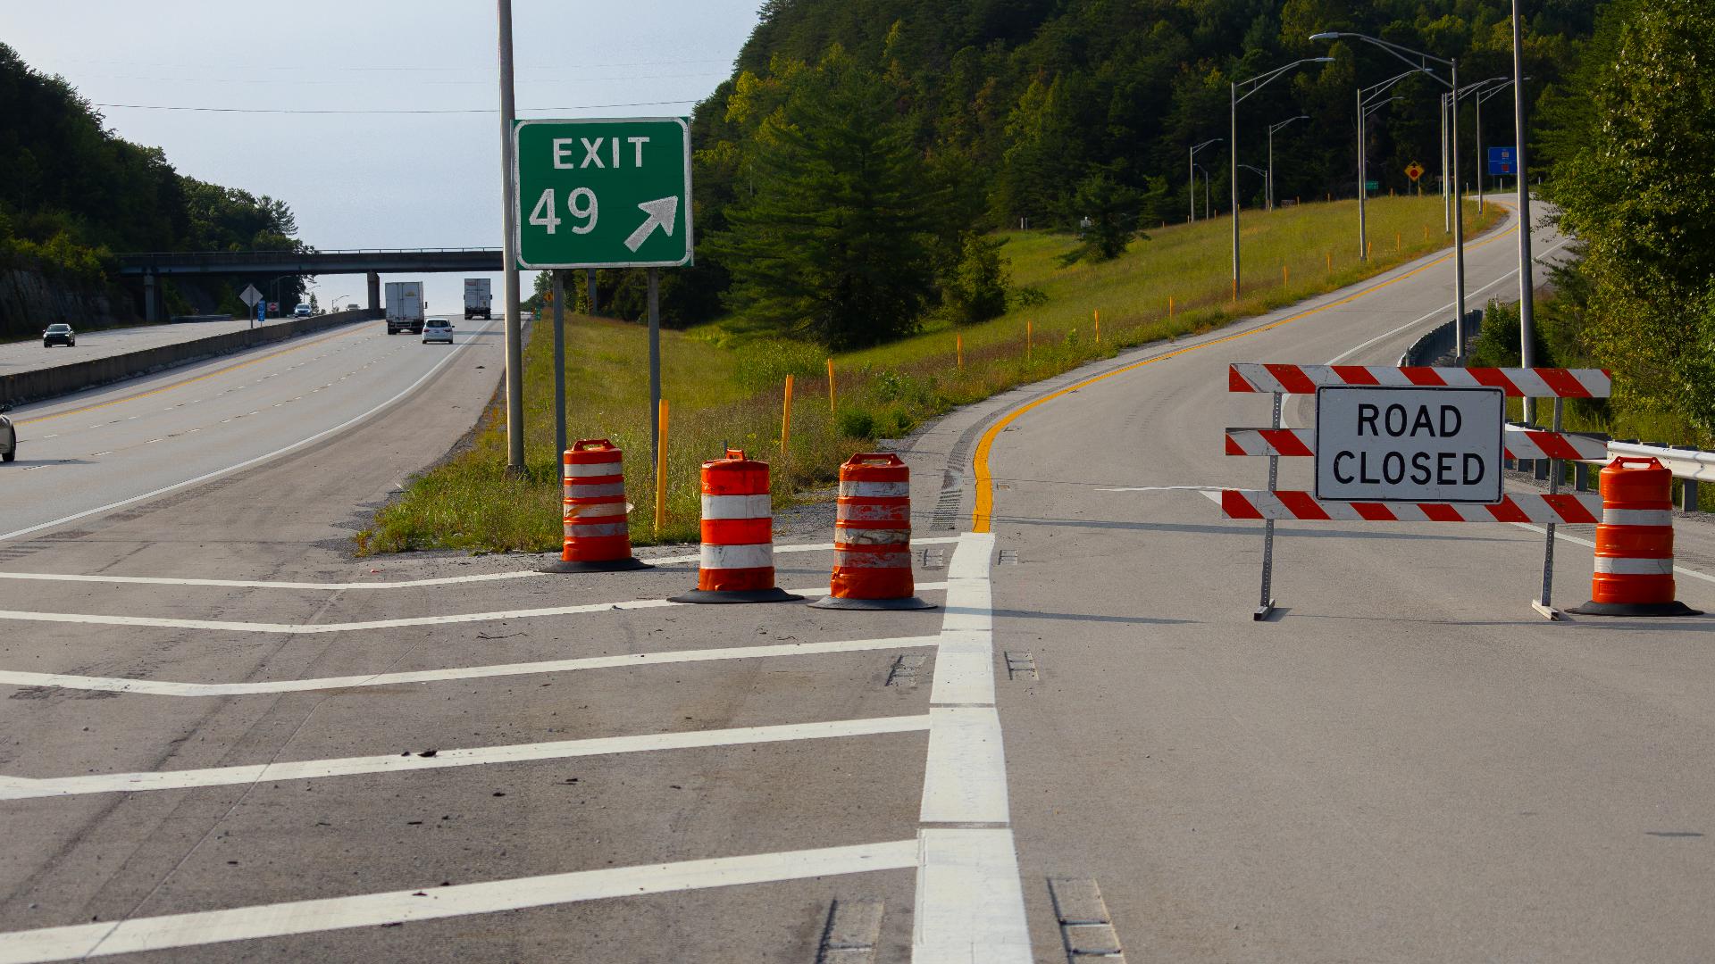
[{"label": "red and white striped barricade holding the ROAD CLOSED sign", "polygon": [[[1228,429],[1225,444],[1226,455],[1267,456],[1267,489],[1219,492],[1226,518],[1264,521],[1262,595],[1254,619],[1274,611],[1274,520],[1281,518],[1545,525],[1542,599],[1531,606],[1559,618],[1550,604],[1554,527],[1595,523],[1602,513],[1600,497],[1559,491],[1559,460],[1607,456],[1597,439],[1561,431],[1562,405],[1566,398],[1607,398],[1607,371],[1233,364],[1226,386],[1274,396],[1271,427]],[[1286,395],[1317,396],[1326,437],[1281,427]],[[1554,431],[1506,425],[1502,398],[1552,398]],[[1338,417],[1324,425],[1329,412]],[[1315,456],[1317,491],[1276,489],[1281,456]],[[1550,460],[1549,494],[1502,492],[1502,458]]]}]

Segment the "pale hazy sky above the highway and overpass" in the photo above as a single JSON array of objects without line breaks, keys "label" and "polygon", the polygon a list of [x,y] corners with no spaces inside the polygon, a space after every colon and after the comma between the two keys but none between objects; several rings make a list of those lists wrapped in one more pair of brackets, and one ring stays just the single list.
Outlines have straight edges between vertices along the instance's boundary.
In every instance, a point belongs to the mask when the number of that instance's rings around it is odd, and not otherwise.
[{"label": "pale hazy sky above the highway and overpass", "polygon": [[[513,0],[518,115],[688,115],[731,72],[760,2]],[[0,0],[0,39],[98,105],[472,111],[96,108],[180,173],[285,199],[316,247],[501,244],[492,2]],[[432,312],[460,310],[460,274],[420,278]],[[316,288],[322,304],[362,292],[360,274]]]}]

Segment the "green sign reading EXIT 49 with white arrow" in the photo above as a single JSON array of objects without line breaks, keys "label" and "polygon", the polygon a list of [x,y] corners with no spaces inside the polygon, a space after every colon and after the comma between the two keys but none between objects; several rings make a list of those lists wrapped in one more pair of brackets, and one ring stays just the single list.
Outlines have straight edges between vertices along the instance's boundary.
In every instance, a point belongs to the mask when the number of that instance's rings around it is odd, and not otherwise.
[{"label": "green sign reading EXIT 49 with white arrow", "polygon": [[681,117],[513,124],[518,268],[691,264],[691,132]]}]

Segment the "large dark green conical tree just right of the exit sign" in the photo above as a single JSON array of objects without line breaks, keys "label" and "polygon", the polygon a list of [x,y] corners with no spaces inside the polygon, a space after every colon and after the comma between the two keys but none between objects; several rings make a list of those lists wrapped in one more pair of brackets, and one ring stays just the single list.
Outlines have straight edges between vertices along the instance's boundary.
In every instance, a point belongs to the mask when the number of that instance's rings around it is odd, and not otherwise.
[{"label": "large dark green conical tree just right of the exit sign", "polygon": [[732,276],[727,305],[751,328],[832,348],[914,331],[945,206],[894,91],[835,48],[794,75],[755,146],[753,194],[707,242]]}]

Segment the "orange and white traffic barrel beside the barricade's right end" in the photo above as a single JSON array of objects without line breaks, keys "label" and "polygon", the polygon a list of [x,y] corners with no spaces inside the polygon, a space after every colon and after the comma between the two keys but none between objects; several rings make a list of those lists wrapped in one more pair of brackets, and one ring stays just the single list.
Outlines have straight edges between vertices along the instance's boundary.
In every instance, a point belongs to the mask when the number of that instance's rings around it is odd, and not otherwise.
[{"label": "orange and white traffic barrel beside the barricade's right end", "polygon": [[1696,616],[1674,599],[1674,475],[1653,458],[1619,456],[1602,470],[1590,602],[1585,616]]}]

